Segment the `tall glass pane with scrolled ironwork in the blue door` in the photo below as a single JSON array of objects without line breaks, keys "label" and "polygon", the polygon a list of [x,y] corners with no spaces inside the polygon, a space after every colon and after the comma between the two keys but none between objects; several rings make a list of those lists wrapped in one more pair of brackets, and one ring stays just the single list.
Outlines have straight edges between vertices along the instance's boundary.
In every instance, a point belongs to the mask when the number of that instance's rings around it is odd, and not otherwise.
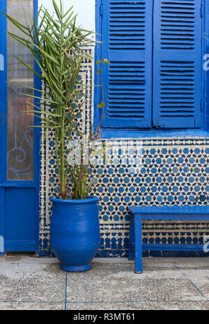
[{"label": "tall glass pane with scrolled ironwork in the blue door", "polygon": [[[33,21],[33,0],[8,0],[7,13],[22,24]],[[14,24],[8,21],[10,33],[24,37]],[[7,179],[33,180],[33,98],[24,96],[32,94],[33,73],[29,71],[18,57],[33,67],[33,57],[29,50],[10,35],[7,36],[8,66],[8,121],[7,121]]]}]

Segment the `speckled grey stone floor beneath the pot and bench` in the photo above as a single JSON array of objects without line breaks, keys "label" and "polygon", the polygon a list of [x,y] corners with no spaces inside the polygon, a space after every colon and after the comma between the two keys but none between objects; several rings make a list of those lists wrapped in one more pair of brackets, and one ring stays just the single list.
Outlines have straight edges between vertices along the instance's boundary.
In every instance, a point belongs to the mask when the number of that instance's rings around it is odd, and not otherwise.
[{"label": "speckled grey stone floor beneath the pot and bench", "polygon": [[0,309],[209,309],[209,258],[95,259],[66,273],[55,258],[0,258]]}]

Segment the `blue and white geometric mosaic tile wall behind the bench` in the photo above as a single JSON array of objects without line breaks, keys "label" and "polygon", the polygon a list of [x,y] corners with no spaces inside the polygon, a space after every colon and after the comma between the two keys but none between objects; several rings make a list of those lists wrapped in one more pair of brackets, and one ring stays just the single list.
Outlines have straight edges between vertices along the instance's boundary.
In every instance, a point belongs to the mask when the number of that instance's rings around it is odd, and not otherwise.
[{"label": "blue and white geometric mosaic tile wall behind the bench", "polygon": [[[89,54],[93,54],[92,51],[88,49]],[[93,64],[88,61],[82,68],[81,78],[88,85],[93,74]],[[86,91],[89,93],[82,116],[83,131],[88,131],[93,119],[93,90],[87,88]],[[209,138],[150,138],[105,143],[109,160],[104,163],[102,159],[88,170],[90,181],[97,178],[91,195],[100,197],[102,244],[98,257],[127,256],[129,205],[209,205]],[[51,256],[49,198],[56,196],[58,184],[53,145],[53,132],[49,131],[40,157],[40,256]],[[122,145],[119,151],[114,149],[118,145]],[[127,159],[127,153],[131,159]],[[201,221],[145,221],[143,228],[143,242],[150,244],[201,244],[205,235],[209,235],[209,223]],[[147,251],[144,255],[177,254]],[[178,252],[178,255],[191,253]]]}]

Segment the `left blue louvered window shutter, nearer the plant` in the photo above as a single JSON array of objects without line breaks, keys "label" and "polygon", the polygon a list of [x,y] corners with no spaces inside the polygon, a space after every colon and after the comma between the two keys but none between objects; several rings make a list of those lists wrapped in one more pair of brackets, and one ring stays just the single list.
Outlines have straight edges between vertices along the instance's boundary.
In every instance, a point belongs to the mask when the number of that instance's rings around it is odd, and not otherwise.
[{"label": "left blue louvered window shutter, nearer the plant", "polygon": [[150,127],[153,0],[102,3],[102,58],[111,61],[104,69],[109,106],[102,127]]}]

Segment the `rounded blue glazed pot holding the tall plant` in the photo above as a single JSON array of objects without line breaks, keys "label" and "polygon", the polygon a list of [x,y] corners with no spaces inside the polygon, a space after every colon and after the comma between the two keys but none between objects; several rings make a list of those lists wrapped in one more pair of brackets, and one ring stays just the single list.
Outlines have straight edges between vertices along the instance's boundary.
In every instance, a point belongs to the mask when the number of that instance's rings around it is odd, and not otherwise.
[{"label": "rounded blue glazed pot holding the tall plant", "polygon": [[69,272],[91,269],[100,246],[99,198],[62,200],[52,198],[51,247]]}]

